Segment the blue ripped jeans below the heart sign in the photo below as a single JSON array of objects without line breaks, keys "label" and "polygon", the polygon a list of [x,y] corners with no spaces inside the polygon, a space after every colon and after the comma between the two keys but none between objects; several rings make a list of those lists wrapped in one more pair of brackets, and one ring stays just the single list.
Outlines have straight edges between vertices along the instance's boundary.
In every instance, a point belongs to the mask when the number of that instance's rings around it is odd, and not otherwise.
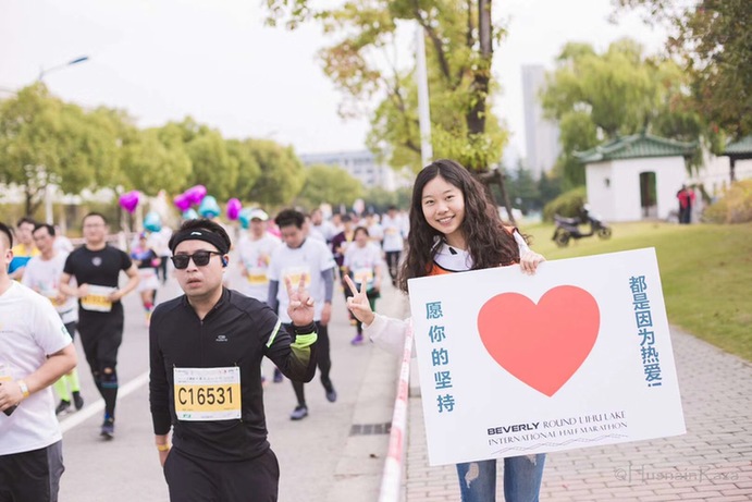
[{"label": "blue ripped jeans below the heart sign", "polygon": [[[545,454],[504,458],[504,500],[538,502]],[[457,464],[463,502],[496,501],[496,461]]]}]

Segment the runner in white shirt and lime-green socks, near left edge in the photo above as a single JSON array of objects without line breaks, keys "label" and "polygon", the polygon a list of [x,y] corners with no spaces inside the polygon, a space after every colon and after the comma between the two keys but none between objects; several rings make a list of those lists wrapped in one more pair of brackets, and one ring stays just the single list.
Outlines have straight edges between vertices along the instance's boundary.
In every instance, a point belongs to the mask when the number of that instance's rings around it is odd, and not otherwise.
[{"label": "runner in white shirt and lime-green socks, near left edge", "polygon": [[[65,296],[58,289],[67,253],[60,252],[56,247],[54,243],[58,237],[57,231],[52,225],[37,223],[33,236],[34,244],[41,254],[28,260],[22,284],[50,299],[65,325],[65,329],[73,338],[78,323],[78,305],[76,298]],[[73,368],[67,375],[63,375],[54,382],[52,388],[60,397],[60,403],[54,409],[57,415],[67,412],[71,408],[71,401],[73,401],[76,411],[84,407],[78,370],[76,368]]]}]

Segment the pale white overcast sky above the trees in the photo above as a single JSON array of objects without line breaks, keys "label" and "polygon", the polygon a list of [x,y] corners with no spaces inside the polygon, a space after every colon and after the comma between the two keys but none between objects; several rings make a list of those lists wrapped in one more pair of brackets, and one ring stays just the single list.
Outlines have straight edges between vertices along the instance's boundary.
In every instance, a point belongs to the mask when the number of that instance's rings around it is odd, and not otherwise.
[{"label": "pale white overcast sky above the trees", "polygon": [[[567,41],[599,51],[625,36],[650,52],[663,46],[665,35],[637,14],[614,25],[611,12],[611,0],[494,2],[508,29],[494,56],[494,111],[515,157],[525,156],[523,64],[553,69]],[[262,0],[0,0],[0,97],[45,70],[56,96],[124,109],[141,127],[192,115],[225,137],[269,138],[299,155],[365,148],[367,117],[337,114],[342,95],[317,59],[335,38],[313,23],[268,27],[263,15]]]}]

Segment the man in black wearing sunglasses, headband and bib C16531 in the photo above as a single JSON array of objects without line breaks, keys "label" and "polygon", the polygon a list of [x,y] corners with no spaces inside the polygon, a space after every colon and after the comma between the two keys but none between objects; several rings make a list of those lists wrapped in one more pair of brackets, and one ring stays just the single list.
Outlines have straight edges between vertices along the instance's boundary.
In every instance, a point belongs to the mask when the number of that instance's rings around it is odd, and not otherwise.
[{"label": "man in black wearing sunglasses, headband and bib C16531", "polygon": [[263,302],[224,287],[230,237],[210,220],[183,223],[170,249],[185,294],[160,304],[149,327],[149,401],[170,500],[275,501],[261,360],[292,380],[313,378],[313,299],[303,279],[286,282],[288,330]]}]

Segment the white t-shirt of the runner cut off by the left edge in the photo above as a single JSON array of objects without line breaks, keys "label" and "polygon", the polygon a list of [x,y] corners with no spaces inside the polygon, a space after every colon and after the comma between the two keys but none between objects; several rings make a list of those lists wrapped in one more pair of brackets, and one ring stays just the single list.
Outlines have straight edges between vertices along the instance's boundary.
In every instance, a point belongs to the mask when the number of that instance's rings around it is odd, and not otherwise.
[{"label": "white t-shirt of the runner cut off by the left edge", "polygon": [[[17,282],[0,295],[0,379],[28,377],[48,355],[71,343],[47,298]],[[49,387],[25,399],[10,417],[0,413],[0,455],[47,448],[61,439]]]}]

